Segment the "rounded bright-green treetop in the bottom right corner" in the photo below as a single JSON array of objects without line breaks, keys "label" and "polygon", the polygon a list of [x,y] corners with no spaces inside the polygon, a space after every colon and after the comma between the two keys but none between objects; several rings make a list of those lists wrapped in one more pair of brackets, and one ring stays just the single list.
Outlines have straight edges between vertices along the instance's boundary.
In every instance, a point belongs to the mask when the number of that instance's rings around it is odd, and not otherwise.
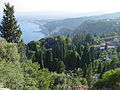
[{"label": "rounded bright-green treetop in the bottom right corner", "polygon": [[120,68],[107,71],[102,78],[96,82],[96,88],[111,88],[112,90],[120,89]]}]

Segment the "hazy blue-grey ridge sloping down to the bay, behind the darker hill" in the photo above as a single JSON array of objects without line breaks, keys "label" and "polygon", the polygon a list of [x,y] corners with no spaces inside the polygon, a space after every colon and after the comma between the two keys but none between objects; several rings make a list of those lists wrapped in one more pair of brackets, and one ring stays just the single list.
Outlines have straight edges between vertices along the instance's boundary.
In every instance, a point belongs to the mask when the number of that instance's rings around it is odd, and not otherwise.
[{"label": "hazy blue-grey ridge sloping down to the bay, behind the darker hill", "polygon": [[74,32],[74,30],[77,31],[76,29],[78,29],[78,27],[86,20],[102,20],[102,19],[107,20],[107,19],[116,19],[119,17],[120,17],[120,12],[97,15],[97,16],[56,20],[44,24],[43,31],[47,31],[47,33],[50,35],[66,35],[67,33]]}]

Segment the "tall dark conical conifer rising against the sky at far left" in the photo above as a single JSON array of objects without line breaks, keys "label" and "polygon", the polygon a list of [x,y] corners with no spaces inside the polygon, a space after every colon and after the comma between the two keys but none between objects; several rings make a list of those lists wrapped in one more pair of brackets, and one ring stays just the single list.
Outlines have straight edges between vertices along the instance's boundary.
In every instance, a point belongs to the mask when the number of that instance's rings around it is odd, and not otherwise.
[{"label": "tall dark conical conifer rising against the sky at far left", "polygon": [[14,6],[10,6],[9,3],[5,4],[3,14],[0,25],[0,36],[5,38],[8,42],[19,42],[22,32],[14,16]]}]

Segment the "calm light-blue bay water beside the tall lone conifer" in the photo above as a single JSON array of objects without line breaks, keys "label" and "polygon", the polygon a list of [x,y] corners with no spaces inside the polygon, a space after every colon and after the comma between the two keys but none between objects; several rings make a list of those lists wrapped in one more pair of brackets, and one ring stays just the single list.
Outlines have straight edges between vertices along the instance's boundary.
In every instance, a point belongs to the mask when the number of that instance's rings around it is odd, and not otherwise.
[{"label": "calm light-blue bay water beside the tall lone conifer", "polygon": [[40,40],[41,38],[45,37],[43,33],[39,32],[41,31],[39,25],[28,21],[21,21],[19,22],[19,24],[22,31],[21,38],[24,40],[25,43],[28,43],[32,40]]}]

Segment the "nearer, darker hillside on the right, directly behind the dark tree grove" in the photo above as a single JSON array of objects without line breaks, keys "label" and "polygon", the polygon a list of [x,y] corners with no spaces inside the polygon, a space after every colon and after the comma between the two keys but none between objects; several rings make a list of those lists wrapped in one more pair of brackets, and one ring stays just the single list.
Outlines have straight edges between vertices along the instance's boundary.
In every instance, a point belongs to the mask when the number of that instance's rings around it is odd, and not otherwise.
[{"label": "nearer, darker hillside on the right, directly behind the dark tree grove", "polygon": [[120,34],[120,19],[87,20],[71,33],[77,34],[84,31],[91,34],[111,32]]}]

